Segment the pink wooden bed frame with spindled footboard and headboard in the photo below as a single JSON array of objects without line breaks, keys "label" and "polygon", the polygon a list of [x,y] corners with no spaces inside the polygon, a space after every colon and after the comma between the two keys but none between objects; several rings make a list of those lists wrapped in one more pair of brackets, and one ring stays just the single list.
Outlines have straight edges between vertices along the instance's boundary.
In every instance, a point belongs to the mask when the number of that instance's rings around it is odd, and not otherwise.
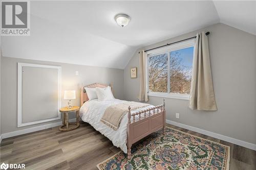
[{"label": "pink wooden bed frame with spindled footboard and headboard", "polygon": [[[85,87],[95,88],[100,87],[104,88],[108,85],[94,83]],[[113,91],[113,87],[111,84],[111,90]],[[81,88],[81,106],[84,102],[87,102],[88,96],[84,87]],[[131,159],[131,147],[132,144],[144,138],[145,136],[156,132],[159,129],[165,128],[165,102],[163,99],[163,105],[154,106],[149,109],[145,109],[142,111],[135,112],[131,114],[131,107],[128,108],[128,122],[127,122],[127,155],[128,159]],[[153,112],[153,113],[152,113]],[[148,113],[148,114],[146,114]],[[139,116],[139,120],[135,119],[135,116]]]}]

